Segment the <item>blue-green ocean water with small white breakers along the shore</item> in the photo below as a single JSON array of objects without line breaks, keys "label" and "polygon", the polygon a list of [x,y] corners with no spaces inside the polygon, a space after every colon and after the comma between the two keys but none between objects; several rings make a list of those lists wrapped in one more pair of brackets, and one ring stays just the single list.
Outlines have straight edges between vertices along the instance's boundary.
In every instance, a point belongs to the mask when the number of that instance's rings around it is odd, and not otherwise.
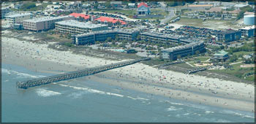
[{"label": "blue-green ocean water with small white breakers along the shore", "polygon": [[254,123],[252,112],[222,109],[151,96],[80,77],[27,90],[17,81],[45,77],[22,66],[2,63],[1,119],[3,123]]}]

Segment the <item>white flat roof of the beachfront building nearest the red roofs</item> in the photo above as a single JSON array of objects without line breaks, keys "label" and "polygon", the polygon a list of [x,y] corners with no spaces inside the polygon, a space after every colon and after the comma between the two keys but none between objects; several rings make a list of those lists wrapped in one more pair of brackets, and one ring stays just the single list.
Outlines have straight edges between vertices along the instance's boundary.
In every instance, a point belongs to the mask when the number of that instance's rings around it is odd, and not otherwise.
[{"label": "white flat roof of the beachfront building nearest the red roofs", "polygon": [[99,28],[102,26],[107,26],[107,25],[102,25],[102,24],[94,24],[94,23],[83,23],[78,20],[63,20],[57,22],[59,25],[65,25],[65,26],[74,26],[74,27],[79,27],[79,28]]}]

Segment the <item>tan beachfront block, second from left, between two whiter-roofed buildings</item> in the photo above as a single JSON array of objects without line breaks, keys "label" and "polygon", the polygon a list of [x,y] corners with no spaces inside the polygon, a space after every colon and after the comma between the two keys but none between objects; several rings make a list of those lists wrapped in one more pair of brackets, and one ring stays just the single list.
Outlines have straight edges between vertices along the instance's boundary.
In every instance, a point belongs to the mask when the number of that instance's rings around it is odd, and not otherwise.
[{"label": "tan beachfront block, second from left, between two whiter-roofed buildings", "polygon": [[24,20],[23,28],[31,31],[46,31],[55,27],[55,23],[62,20],[74,20],[71,15],[60,17],[46,17],[34,18],[31,20]]}]

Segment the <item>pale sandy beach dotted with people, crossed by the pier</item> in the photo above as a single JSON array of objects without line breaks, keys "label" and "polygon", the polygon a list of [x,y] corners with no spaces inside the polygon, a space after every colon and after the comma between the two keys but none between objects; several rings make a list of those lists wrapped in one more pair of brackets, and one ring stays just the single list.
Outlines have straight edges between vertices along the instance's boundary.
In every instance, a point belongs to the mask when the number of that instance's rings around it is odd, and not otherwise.
[{"label": "pale sandy beach dotted with people, crossed by the pier", "polygon": [[[53,50],[48,48],[48,44],[5,37],[9,34],[10,31],[2,31],[2,62],[24,66],[34,71],[61,74],[118,62]],[[255,112],[255,86],[241,82],[159,70],[143,63],[104,71],[90,77],[97,82],[139,90],[151,95]]]}]

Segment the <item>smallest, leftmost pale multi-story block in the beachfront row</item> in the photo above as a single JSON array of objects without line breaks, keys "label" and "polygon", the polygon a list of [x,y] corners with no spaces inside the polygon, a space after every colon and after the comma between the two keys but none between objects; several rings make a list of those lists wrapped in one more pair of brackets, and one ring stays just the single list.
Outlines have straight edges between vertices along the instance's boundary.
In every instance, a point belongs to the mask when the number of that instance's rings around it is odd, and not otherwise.
[{"label": "smallest, leftmost pale multi-story block in the beachfront row", "polygon": [[29,20],[32,18],[31,13],[18,13],[15,15],[5,16],[7,23],[13,26],[15,23],[23,23],[23,20]]}]

